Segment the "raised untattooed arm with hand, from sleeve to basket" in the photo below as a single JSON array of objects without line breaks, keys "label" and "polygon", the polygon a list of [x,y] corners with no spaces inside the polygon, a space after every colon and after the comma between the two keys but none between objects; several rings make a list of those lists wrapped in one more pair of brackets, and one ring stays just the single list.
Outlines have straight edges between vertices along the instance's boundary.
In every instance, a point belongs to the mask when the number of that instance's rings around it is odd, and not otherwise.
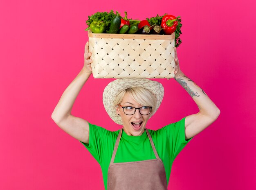
[{"label": "raised untattooed arm with hand, from sleeve to basket", "polygon": [[83,85],[92,74],[88,42],[85,45],[84,66],[76,78],[63,92],[58,104],[56,105],[52,119],[66,133],[85,143],[89,143],[89,125],[86,120],[71,115],[71,110],[77,95],[81,91]]}]

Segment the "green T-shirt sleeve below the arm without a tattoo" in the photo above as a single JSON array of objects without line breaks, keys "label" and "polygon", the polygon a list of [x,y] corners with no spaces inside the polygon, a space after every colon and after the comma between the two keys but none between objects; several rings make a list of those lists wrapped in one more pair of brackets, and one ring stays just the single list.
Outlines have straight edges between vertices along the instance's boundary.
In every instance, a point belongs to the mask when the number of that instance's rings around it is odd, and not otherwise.
[{"label": "green T-shirt sleeve below the arm without a tattoo", "polygon": [[86,149],[92,154],[99,164],[104,159],[104,149],[106,148],[106,142],[109,132],[103,127],[99,127],[94,124],[89,124],[89,144],[81,142]]}]

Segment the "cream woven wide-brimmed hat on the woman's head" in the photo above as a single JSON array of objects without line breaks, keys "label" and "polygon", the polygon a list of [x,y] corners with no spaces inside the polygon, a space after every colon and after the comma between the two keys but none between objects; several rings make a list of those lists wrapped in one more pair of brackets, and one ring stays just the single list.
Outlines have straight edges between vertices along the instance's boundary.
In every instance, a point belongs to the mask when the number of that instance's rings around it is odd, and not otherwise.
[{"label": "cream woven wide-brimmed hat on the woman's head", "polygon": [[120,92],[130,87],[143,87],[155,96],[157,104],[155,109],[153,109],[154,112],[151,116],[155,114],[160,104],[162,103],[164,97],[164,87],[161,83],[157,81],[152,81],[150,79],[117,79],[115,81],[112,81],[104,89],[103,105],[110,118],[117,124],[123,125],[123,122],[121,120],[121,117],[118,116],[116,113],[114,101],[120,94]]}]

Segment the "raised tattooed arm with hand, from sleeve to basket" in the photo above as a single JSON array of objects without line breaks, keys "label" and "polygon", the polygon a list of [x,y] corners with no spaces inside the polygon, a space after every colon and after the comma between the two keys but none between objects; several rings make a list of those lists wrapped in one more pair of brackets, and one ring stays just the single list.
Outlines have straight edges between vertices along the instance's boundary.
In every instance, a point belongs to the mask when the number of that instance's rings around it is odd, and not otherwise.
[{"label": "raised tattooed arm with hand, from sleeve to basket", "polygon": [[185,136],[187,140],[212,124],[220,115],[220,109],[218,109],[202,88],[180,70],[176,48],[175,65],[174,79],[189,93],[199,109],[197,114],[189,115],[185,119]]}]

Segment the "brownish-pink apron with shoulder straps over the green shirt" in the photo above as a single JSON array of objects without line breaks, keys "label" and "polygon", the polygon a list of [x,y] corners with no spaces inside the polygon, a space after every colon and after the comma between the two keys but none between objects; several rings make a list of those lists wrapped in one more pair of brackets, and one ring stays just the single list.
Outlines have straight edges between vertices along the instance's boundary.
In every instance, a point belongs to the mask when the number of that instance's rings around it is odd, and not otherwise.
[{"label": "brownish-pink apron with shoulder straps over the green shirt", "polygon": [[123,128],[120,130],[108,167],[108,190],[167,190],[164,164],[146,129],[156,159],[114,163]]}]

